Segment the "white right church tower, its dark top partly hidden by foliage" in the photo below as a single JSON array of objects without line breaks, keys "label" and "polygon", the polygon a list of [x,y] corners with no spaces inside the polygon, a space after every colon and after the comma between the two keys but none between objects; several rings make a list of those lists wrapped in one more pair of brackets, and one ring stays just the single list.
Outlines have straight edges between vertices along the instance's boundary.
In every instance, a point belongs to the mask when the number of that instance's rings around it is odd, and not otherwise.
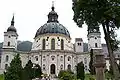
[{"label": "white right church tower, its dark top partly hidden by foliage", "polygon": [[88,51],[101,48],[101,33],[99,27],[88,29]]}]

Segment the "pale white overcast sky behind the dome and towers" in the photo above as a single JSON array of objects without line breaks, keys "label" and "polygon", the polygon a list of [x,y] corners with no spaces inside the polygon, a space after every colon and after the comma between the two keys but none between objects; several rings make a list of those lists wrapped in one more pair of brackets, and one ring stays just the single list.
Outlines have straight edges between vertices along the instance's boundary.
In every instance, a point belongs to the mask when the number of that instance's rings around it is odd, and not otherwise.
[{"label": "pale white overcast sky behind the dome and towers", "polygon": [[[13,13],[18,40],[34,41],[37,29],[47,22],[52,1],[59,15],[58,20],[68,29],[72,42],[75,38],[83,38],[87,42],[87,26],[79,28],[72,20],[72,0],[0,0],[0,42],[4,40],[4,32],[11,24]],[[102,43],[103,37],[102,33]]]}]

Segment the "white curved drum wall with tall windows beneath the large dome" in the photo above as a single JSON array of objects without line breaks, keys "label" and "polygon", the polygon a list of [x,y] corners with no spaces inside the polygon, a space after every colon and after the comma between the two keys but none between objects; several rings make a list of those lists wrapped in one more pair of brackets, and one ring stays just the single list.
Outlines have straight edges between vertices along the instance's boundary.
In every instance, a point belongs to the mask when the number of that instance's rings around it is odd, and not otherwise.
[{"label": "white curved drum wall with tall windows beneath the large dome", "polygon": [[[48,41],[46,40],[48,38]],[[58,37],[60,39],[60,41],[58,41]],[[63,35],[41,35],[38,36],[37,38],[35,38],[34,42],[33,42],[33,46],[32,46],[32,50],[39,50],[42,49],[42,40],[45,39],[46,40],[46,48],[45,49],[51,49],[51,39],[55,39],[55,49],[60,49],[61,50],[61,39],[64,40],[64,50],[71,50],[73,51],[73,44],[71,43],[70,38],[63,36]]]}]

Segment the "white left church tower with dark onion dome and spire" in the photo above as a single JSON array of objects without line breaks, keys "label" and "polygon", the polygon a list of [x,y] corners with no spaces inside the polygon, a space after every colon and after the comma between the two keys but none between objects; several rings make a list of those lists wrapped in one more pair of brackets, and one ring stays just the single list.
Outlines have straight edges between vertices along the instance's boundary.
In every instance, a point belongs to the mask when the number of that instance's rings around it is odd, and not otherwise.
[{"label": "white left church tower with dark onion dome and spire", "polygon": [[11,21],[10,27],[8,27],[7,32],[4,32],[4,42],[3,49],[17,49],[17,30],[14,27],[14,15]]}]

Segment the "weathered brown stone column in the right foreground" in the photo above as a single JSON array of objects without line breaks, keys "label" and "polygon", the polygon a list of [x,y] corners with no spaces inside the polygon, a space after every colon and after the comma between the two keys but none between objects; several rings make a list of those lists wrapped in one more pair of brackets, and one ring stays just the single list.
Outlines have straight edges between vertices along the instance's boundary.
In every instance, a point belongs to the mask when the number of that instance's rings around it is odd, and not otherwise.
[{"label": "weathered brown stone column in the right foreground", "polygon": [[105,80],[104,68],[105,68],[105,58],[102,54],[101,49],[93,50],[94,62],[96,71],[96,80]]}]

